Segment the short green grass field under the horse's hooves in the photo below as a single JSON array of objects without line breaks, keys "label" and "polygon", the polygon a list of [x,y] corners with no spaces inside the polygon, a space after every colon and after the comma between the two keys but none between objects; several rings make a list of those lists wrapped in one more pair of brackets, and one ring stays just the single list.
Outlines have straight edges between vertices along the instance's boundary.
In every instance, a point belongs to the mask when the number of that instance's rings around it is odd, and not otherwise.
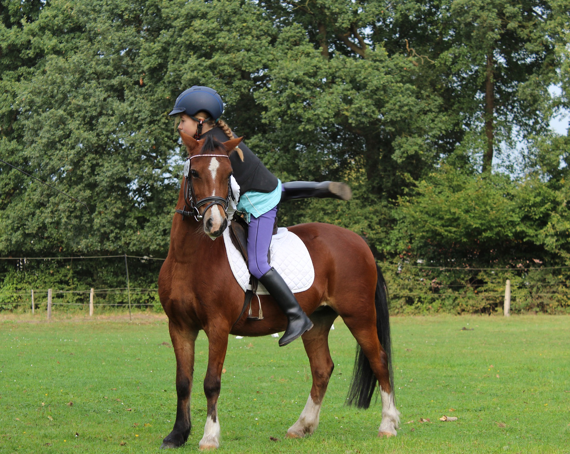
[{"label": "short green grass field under the horse's hooves", "polygon": [[[391,439],[376,436],[379,401],[366,411],[343,405],[355,340],[340,320],[335,327],[320,425],[303,440],[284,437],[311,387],[302,343],[230,336],[220,452],[570,452],[570,317],[393,318],[402,424]],[[0,321],[0,452],[158,452],[176,411],[165,342],[166,321],[154,316]],[[198,451],[206,418],[203,332],[196,352],[193,431],[178,452]]]}]

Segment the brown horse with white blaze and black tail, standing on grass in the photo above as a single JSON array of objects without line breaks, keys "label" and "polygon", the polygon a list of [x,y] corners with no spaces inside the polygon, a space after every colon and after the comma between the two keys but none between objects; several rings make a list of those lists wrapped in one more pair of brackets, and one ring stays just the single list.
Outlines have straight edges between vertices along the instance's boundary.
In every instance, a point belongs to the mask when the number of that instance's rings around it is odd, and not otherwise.
[{"label": "brown horse with white blaze and black tail, standing on grass", "polygon": [[[227,156],[241,139],[219,143],[211,139],[197,141],[182,134],[182,140],[188,148],[190,168],[185,171],[177,209],[188,215],[186,188],[191,187],[197,219],[174,215],[170,250],[158,278],[160,301],[168,315],[176,355],[178,397],[174,428],[161,448],[179,447],[190,434],[194,341],[199,330],[204,330],[209,340],[204,379],[207,419],[200,448],[218,448],[217,401],[228,335],[265,336],[284,331],[287,318],[269,295],[260,296],[263,320],[247,319],[246,312],[240,316],[244,292],[233,278],[223,238],[219,238],[227,226],[227,205],[223,203],[228,197],[231,174]],[[313,383],[307,404],[287,436],[310,435],[319,424],[321,403],[334,367],[328,332],[339,315],[358,343],[348,403],[368,408],[378,381],[382,400],[378,435],[396,435],[400,413],[394,402],[386,288],[370,249],[360,236],[330,224],[301,224],[288,229],[306,244],[315,280],[309,290],[296,294],[314,323],[314,328],[302,336]]]}]

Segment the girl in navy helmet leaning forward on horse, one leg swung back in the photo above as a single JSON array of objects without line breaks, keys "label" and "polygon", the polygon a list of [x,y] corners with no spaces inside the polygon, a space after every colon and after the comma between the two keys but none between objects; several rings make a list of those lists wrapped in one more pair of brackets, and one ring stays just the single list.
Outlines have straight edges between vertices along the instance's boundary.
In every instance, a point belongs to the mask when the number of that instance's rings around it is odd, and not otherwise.
[{"label": "girl in navy helmet leaning forward on horse, one leg swung back", "polygon": [[[220,142],[237,137],[219,117],[223,113],[220,95],[209,87],[193,86],[176,99],[168,115],[177,115],[178,130],[199,140],[207,135]],[[267,289],[287,316],[287,330],[279,339],[279,346],[287,345],[313,326],[303,312],[293,292],[275,268],[267,263],[275,216],[281,200],[307,197],[332,197],[349,200],[352,196],[347,184],[335,182],[282,183],[263,165],[245,143],[239,144],[243,159],[238,153],[230,155],[233,176],[239,184],[238,211],[249,224],[247,255],[250,273]]]}]

